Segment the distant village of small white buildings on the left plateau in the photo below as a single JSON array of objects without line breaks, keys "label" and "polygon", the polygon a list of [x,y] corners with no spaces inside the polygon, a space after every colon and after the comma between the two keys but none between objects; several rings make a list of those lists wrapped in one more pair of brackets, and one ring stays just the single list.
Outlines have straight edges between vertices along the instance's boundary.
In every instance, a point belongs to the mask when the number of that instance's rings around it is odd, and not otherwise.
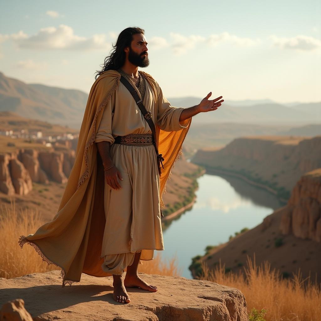
[{"label": "distant village of small white buildings on the left plateau", "polygon": [[11,137],[11,138],[29,139],[35,143],[41,143],[46,147],[52,147],[53,145],[56,145],[56,144],[62,144],[62,145],[65,145],[66,147],[71,147],[71,141],[77,138],[77,136],[71,133],[44,136],[42,131],[29,131],[25,129],[4,130],[4,131],[0,131],[0,135]]}]

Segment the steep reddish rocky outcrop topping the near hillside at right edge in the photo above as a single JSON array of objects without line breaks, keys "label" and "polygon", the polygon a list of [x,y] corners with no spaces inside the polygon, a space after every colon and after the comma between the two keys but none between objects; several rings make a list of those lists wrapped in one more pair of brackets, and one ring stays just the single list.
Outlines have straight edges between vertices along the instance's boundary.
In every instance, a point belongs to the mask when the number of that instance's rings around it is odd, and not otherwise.
[{"label": "steep reddish rocky outcrop topping the near hillside at right edge", "polygon": [[321,169],[306,173],[293,188],[280,229],[284,235],[321,242]]}]

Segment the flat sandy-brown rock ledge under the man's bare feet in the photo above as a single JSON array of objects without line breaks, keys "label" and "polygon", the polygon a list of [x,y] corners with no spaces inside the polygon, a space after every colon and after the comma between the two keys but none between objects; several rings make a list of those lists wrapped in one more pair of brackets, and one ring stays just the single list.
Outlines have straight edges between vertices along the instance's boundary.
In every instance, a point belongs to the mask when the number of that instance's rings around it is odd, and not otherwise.
[{"label": "flat sandy-brown rock ledge under the man's bare feet", "polygon": [[[18,316],[19,309],[22,316],[28,311],[34,321],[248,320],[245,297],[238,289],[180,276],[139,275],[158,291],[128,288],[127,304],[114,301],[112,277],[82,273],[79,283],[65,288],[60,270],[0,278],[0,320],[29,320]],[[8,318],[10,309],[15,316]]]}]

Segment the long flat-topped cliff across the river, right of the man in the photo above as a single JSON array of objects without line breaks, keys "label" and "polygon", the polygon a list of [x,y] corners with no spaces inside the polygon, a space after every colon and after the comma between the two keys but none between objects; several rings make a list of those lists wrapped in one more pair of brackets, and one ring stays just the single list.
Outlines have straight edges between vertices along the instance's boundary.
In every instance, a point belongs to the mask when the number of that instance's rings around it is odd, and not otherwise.
[{"label": "long flat-topped cliff across the river, right of the man", "polygon": [[321,136],[238,138],[222,149],[199,150],[192,161],[207,168],[238,173],[287,199],[304,173],[321,167]]}]

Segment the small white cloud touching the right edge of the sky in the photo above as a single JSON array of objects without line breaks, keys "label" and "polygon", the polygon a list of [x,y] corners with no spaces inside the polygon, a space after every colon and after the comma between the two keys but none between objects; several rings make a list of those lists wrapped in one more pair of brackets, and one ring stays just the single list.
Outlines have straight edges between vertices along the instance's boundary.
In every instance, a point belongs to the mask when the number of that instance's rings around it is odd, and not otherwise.
[{"label": "small white cloud touching the right edge of the sky", "polygon": [[280,38],[275,35],[271,35],[269,36],[269,39],[273,42],[274,47],[281,49],[310,51],[321,48],[321,40],[304,35],[298,35],[291,38]]}]

